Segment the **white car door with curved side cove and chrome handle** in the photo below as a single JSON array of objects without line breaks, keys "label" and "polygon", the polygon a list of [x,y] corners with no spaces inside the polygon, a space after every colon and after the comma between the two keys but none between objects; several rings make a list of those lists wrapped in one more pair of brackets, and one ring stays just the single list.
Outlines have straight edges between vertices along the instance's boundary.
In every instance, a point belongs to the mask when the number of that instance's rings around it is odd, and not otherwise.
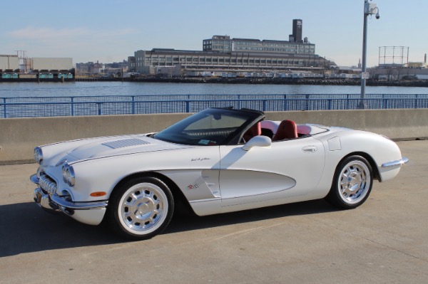
[{"label": "white car door with curved side cove and chrome handle", "polygon": [[312,137],[272,142],[269,147],[220,146],[223,211],[287,203],[316,187],[324,169],[322,143]]}]

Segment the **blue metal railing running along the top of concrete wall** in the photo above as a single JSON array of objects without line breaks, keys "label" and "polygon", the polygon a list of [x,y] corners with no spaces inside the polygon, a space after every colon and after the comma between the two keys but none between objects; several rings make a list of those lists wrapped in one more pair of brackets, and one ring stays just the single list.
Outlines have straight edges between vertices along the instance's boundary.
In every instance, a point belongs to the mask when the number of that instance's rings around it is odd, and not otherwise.
[{"label": "blue metal railing running along the top of concrete wall", "polygon": [[135,95],[0,98],[0,117],[133,115],[198,112],[207,107],[287,110],[428,108],[428,94],[366,95]]}]

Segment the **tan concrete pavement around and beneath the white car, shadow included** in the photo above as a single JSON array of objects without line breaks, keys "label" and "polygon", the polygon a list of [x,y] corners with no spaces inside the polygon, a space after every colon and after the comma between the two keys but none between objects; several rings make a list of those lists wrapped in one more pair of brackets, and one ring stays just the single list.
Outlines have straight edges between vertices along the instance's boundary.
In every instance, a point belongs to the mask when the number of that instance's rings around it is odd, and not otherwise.
[{"label": "tan concrete pavement around and beneath the white car, shadow included", "polygon": [[0,166],[0,283],[427,283],[428,141],[397,144],[409,164],[357,209],[175,216],[138,242],[42,211],[36,164]]}]

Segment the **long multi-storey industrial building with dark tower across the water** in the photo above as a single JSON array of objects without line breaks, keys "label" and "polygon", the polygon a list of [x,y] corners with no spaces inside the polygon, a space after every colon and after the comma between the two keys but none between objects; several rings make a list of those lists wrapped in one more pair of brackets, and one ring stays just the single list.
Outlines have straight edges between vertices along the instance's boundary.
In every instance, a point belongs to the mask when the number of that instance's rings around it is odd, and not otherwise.
[{"label": "long multi-storey industrial building with dark tower across the water", "polygon": [[[285,72],[287,70],[322,70],[330,61],[315,54],[315,44],[302,39],[302,20],[293,20],[288,41],[258,40],[212,36],[203,40],[202,51],[173,48],[153,48],[135,51],[128,57],[128,70],[141,74],[195,71],[225,72]],[[179,70],[179,71],[178,71]]]}]

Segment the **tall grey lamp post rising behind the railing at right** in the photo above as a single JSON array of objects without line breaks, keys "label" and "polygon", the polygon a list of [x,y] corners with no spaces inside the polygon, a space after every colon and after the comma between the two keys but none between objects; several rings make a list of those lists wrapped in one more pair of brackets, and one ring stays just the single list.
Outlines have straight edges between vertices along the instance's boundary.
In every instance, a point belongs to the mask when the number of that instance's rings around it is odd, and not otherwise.
[{"label": "tall grey lamp post rising behind the railing at right", "polygon": [[[371,1],[371,0],[370,0]],[[376,14],[376,19],[379,19],[379,8],[375,3],[369,3],[369,0],[364,0],[364,27],[362,30],[362,70],[361,70],[361,102],[360,108],[365,108],[365,81],[369,78],[369,73],[366,72],[366,54],[367,54],[367,16]]]}]

